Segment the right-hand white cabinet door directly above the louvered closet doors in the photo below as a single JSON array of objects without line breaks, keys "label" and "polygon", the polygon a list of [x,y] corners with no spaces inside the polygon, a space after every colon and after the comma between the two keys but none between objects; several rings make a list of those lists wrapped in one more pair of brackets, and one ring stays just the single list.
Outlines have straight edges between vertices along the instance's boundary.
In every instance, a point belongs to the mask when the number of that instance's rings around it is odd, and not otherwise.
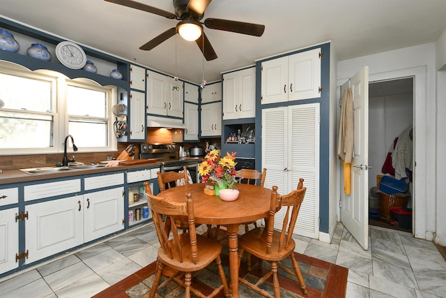
[{"label": "right-hand white cabinet door directly above the louvered closet doors", "polygon": [[321,49],[314,49],[289,57],[288,100],[320,98]]}]

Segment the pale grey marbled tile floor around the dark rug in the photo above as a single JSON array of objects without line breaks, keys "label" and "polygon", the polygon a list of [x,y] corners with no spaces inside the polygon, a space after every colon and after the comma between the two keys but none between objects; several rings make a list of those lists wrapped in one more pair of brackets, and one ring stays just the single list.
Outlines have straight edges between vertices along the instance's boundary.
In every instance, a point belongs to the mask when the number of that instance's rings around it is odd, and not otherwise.
[{"label": "pale grey marbled tile floor around the dark rug", "polygon": [[[339,223],[331,244],[297,237],[298,253],[348,267],[346,297],[446,297],[446,261],[431,241],[370,226],[364,251]],[[148,224],[0,282],[3,297],[91,297],[155,261]]]}]

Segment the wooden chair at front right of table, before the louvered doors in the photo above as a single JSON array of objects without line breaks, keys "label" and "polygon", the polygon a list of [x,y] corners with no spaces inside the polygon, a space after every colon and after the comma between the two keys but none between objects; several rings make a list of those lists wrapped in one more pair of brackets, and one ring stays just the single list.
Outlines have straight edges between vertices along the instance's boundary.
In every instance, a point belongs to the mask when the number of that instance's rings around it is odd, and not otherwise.
[{"label": "wooden chair at front right of table, before the louvered doors", "polygon": [[[279,278],[277,276],[277,269],[283,269],[288,274],[295,275],[298,278],[298,283],[304,295],[308,294],[305,281],[302,278],[298,262],[294,258],[295,241],[292,238],[295,222],[298,218],[300,205],[305,196],[307,188],[303,187],[303,180],[299,179],[298,189],[292,191],[287,195],[277,194],[277,186],[272,186],[270,214],[268,216],[268,227],[255,228],[250,230],[243,237],[238,240],[239,253],[238,263],[243,253],[247,252],[247,269],[251,271],[251,255],[259,258],[259,272],[263,270],[262,260],[267,260],[271,264],[271,269],[256,284],[249,283],[245,278],[240,278],[240,283],[247,285],[252,290],[259,292],[264,297],[272,297],[268,292],[262,290],[260,287],[272,275],[272,285],[274,287],[274,297],[280,297]],[[281,209],[286,208],[282,230],[274,229],[275,213]],[[285,258],[291,258],[294,271],[279,264],[278,261]]]}]

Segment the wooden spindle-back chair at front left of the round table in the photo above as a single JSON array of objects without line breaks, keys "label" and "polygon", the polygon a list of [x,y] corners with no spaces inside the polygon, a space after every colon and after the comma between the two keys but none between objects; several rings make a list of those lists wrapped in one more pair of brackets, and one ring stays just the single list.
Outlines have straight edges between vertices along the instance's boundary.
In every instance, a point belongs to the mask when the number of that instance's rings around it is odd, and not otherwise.
[{"label": "wooden spindle-back chair at front left of the round table", "polygon": [[[146,196],[148,206],[152,212],[156,234],[160,241],[155,280],[153,281],[149,297],[155,297],[156,291],[159,288],[163,288],[170,281],[175,281],[178,285],[185,288],[184,297],[186,298],[190,297],[190,292],[197,297],[206,297],[199,290],[192,287],[192,273],[207,267],[213,260],[217,263],[222,285],[207,297],[215,297],[222,290],[224,297],[229,297],[229,286],[224,275],[222,260],[220,259],[222,245],[214,239],[197,234],[192,195],[186,193],[185,203],[169,202],[165,198],[156,197],[147,191]],[[174,216],[187,216],[189,232],[178,234],[176,225],[166,226],[167,222],[174,222]],[[163,221],[162,218],[165,218],[165,220]],[[167,221],[167,218],[170,218],[170,221]],[[169,237],[169,232],[167,232],[169,228],[171,228],[172,237]],[[160,284],[164,268],[169,268],[176,273]],[[184,281],[180,279],[180,276],[183,274],[185,276]]]}]

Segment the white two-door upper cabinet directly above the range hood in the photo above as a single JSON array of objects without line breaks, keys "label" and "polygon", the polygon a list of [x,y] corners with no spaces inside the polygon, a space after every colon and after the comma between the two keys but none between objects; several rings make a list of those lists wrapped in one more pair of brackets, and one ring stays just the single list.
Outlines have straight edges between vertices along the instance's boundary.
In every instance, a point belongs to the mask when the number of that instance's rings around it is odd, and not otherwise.
[{"label": "white two-door upper cabinet directly above the range hood", "polygon": [[147,113],[183,118],[183,82],[147,70]]}]

